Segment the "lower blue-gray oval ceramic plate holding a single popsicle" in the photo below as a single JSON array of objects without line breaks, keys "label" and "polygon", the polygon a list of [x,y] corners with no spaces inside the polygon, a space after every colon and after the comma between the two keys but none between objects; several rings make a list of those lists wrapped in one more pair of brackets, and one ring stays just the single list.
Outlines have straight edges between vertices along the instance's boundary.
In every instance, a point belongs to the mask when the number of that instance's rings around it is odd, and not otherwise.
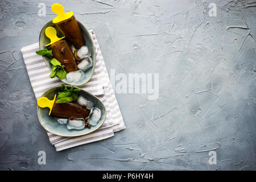
[{"label": "lower blue-gray oval ceramic plate holding a single popsicle", "polygon": [[[70,86],[67,86],[67,88],[70,88]],[[58,92],[61,92],[61,86],[55,86],[53,88],[48,89],[46,92],[43,93],[42,97],[47,97],[49,100],[53,100],[53,97]],[[106,118],[106,109],[105,109],[104,105],[102,104],[102,102],[100,100],[98,100],[97,97],[93,96],[92,94],[90,94],[89,92],[86,92],[84,90],[81,90],[79,92],[79,96],[84,96],[84,97],[88,98],[89,100],[91,100],[93,102],[94,107],[97,107],[98,109],[101,110],[101,118],[98,121],[96,126],[91,126],[90,129],[84,128],[82,130],[68,130],[66,125],[64,125],[64,124],[61,125],[57,121],[57,117],[48,115],[49,114],[48,107],[41,108],[38,106],[38,109],[37,109],[38,119],[39,119],[40,124],[43,126],[43,128],[53,134],[60,135],[63,137],[76,137],[76,136],[92,133],[93,131],[95,131],[99,127],[101,127],[101,125],[104,123],[105,118]]]}]

